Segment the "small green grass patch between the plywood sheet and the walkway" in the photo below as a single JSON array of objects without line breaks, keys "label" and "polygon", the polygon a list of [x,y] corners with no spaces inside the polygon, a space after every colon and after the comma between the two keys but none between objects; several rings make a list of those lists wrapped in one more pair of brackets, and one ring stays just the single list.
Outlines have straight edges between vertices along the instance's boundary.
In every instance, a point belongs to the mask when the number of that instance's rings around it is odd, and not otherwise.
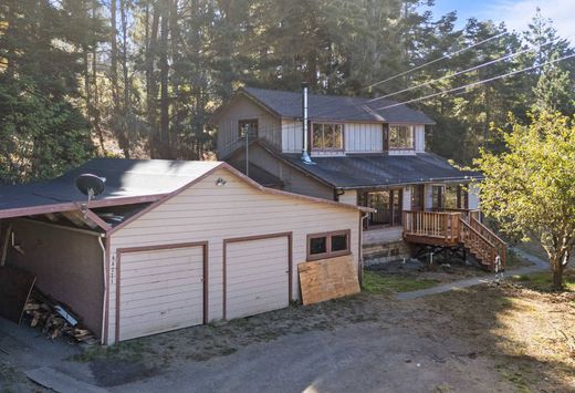
[{"label": "small green grass patch between the plywood sheet and the walkway", "polygon": [[417,279],[399,275],[381,275],[375,271],[364,273],[364,291],[373,294],[393,292],[409,292],[419,289],[427,289],[439,283],[432,279]]}]

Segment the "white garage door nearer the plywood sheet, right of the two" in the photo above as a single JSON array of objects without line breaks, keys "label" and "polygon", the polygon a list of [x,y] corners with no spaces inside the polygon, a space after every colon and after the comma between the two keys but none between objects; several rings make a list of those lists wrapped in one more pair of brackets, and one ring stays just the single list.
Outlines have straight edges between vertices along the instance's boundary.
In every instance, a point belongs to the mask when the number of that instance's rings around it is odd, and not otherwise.
[{"label": "white garage door nearer the plywood sheet, right of the two", "polygon": [[290,237],[226,244],[226,318],[253,316],[290,304]]}]

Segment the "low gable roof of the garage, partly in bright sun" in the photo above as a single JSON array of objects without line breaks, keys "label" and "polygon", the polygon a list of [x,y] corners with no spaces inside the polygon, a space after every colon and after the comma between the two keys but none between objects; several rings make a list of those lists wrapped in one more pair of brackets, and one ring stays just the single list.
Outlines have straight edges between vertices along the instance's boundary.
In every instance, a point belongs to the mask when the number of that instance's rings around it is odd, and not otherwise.
[{"label": "low gable roof of the garage, partly in bright sun", "polygon": [[77,210],[87,198],[76,189],[75,178],[85,173],[106,178],[104,193],[92,199],[88,206],[97,208],[160,203],[219,167],[227,168],[265,193],[279,193],[311,201],[337,204],[342,207],[357,209],[351,205],[263,187],[222,162],[95,158],[50,182],[0,186],[0,218]]}]

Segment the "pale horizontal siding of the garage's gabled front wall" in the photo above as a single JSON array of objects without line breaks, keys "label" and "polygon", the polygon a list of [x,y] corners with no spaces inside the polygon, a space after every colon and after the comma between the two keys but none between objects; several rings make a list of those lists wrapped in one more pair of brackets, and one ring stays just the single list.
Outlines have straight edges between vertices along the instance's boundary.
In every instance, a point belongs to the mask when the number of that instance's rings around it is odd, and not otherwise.
[{"label": "pale horizontal siding of the garage's gabled front wall", "polygon": [[[217,186],[222,178],[224,186]],[[292,294],[299,298],[297,265],[306,260],[306,236],[351,230],[357,266],[359,211],[289,195],[263,193],[226,168],[216,169],[180,194],[142,215],[109,238],[108,342],[115,342],[115,255],[118,248],[208,242],[208,321],[222,318],[223,240],[292,232]]]}]

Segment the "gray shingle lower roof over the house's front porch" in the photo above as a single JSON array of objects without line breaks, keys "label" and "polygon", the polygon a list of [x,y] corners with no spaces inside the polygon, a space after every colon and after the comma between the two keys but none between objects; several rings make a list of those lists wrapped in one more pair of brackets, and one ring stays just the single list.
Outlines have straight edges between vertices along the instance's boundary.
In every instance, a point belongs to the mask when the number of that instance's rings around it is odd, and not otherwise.
[{"label": "gray shingle lower roof over the house's front porch", "polygon": [[282,154],[282,157],[336,188],[459,182],[481,177],[480,173],[460,170],[431,153],[406,156],[358,154],[314,157],[315,165],[304,164],[299,154]]}]

